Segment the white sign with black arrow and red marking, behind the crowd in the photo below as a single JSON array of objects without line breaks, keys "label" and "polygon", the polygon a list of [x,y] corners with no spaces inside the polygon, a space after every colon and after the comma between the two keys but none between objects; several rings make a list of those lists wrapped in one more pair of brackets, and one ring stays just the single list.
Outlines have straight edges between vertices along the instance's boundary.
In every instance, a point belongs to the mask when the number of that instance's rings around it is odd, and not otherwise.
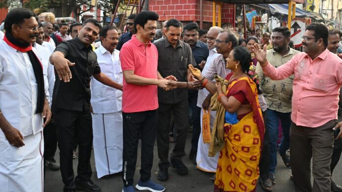
[{"label": "white sign with black arrow and red marking, behind the crowd", "polygon": [[294,18],[291,21],[291,40],[294,47],[298,48],[302,46],[302,36],[304,35],[306,22],[304,19]]}]

